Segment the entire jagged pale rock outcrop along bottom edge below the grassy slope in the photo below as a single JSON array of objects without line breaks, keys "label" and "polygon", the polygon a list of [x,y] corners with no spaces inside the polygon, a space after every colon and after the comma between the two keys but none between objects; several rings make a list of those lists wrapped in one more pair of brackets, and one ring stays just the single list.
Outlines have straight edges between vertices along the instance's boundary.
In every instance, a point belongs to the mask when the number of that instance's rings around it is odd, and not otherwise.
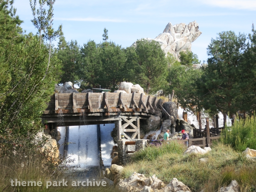
[{"label": "entire jagged pale rock outcrop along bottom edge below the grassy slope", "polygon": [[120,192],[184,192],[189,191],[188,186],[173,178],[168,185],[158,179],[155,175],[145,177],[143,174],[134,172],[128,179],[120,179],[116,185],[116,189]]}]

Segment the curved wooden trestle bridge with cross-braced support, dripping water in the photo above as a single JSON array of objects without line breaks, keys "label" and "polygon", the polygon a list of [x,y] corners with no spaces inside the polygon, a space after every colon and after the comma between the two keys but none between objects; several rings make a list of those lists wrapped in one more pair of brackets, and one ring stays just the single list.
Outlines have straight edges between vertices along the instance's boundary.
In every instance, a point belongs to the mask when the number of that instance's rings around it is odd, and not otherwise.
[{"label": "curved wooden trestle bridge with cross-braced support, dripping water", "polygon": [[[162,111],[164,100],[143,93],[55,93],[42,114],[51,130],[65,126],[115,123],[118,140],[140,139],[140,119]],[[62,125],[63,126],[63,125]]]}]

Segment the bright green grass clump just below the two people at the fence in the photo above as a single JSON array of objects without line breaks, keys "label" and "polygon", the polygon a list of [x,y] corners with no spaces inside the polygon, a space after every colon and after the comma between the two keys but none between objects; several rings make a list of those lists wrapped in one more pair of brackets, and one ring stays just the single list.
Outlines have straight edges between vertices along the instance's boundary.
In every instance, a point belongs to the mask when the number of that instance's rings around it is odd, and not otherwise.
[{"label": "bright green grass clump just below the two people at the fence", "polygon": [[168,153],[183,154],[186,146],[178,143],[177,141],[170,141],[161,146],[150,145],[144,150],[134,153],[132,156],[133,161],[154,161],[157,157],[161,157]]}]

